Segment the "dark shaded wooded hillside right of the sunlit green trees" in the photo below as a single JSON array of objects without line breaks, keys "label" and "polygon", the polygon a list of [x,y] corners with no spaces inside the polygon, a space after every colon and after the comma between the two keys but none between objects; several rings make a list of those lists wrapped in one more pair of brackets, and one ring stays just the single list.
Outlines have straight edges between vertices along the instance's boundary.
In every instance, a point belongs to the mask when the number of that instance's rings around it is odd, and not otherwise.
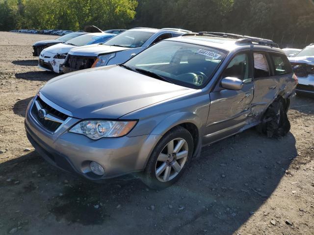
[{"label": "dark shaded wooded hillside right of the sunlit green trees", "polygon": [[131,25],[229,32],[301,48],[314,43],[314,1],[138,0]]}]

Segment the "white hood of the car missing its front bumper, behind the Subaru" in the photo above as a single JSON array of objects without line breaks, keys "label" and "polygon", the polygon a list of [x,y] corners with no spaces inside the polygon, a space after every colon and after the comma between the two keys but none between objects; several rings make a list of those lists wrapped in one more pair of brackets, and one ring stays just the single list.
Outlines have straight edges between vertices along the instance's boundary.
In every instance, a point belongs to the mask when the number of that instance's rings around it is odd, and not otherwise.
[{"label": "white hood of the car missing its front bumper, behind the Subaru", "polygon": [[82,55],[82,56],[98,56],[99,54],[108,54],[112,52],[118,52],[121,50],[130,49],[128,47],[114,47],[102,44],[92,44],[82,47],[76,47],[71,49],[69,54]]}]

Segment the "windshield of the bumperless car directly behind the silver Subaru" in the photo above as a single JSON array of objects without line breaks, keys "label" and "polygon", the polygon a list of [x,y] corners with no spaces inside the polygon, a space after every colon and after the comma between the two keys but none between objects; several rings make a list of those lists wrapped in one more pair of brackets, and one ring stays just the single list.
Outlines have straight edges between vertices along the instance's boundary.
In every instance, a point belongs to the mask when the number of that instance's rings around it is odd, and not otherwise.
[{"label": "windshield of the bumperless car directly behind the silver Subaru", "polygon": [[142,47],[142,45],[153,35],[152,32],[125,31],[111,38],[104,45],[120,46],[128,48]]}]

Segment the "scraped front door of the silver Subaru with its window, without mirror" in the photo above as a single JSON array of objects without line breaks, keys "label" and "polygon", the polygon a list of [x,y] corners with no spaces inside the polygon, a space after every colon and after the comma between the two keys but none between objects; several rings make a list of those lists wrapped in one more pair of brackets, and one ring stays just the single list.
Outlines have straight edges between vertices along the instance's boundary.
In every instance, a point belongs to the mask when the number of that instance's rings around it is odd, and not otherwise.
[{"label": "scraped front door of the silver Subaru with its window, without mirror", "polygon": [[[236,54],[209,94],[209,117],[203,140],[205,144],[233,135],[246,124],[254,96],[252,60],[251,51]],[[220,82],[224,77],[241,79],[243,88],[239,91],[223,89]]]}]

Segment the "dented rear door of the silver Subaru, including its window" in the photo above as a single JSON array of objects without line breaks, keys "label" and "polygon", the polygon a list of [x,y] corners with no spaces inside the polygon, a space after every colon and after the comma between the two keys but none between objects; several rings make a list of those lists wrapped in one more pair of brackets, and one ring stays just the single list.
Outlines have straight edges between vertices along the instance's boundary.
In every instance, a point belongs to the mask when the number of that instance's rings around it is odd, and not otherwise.
[{"label": "dented rear door of the silver Subaru, including its window", "polygon": [[274,75],[270,55],[264,51],[254,51],[254,99],[253,114],[262,114],[269,103],[278,94],[279,79]]}]

